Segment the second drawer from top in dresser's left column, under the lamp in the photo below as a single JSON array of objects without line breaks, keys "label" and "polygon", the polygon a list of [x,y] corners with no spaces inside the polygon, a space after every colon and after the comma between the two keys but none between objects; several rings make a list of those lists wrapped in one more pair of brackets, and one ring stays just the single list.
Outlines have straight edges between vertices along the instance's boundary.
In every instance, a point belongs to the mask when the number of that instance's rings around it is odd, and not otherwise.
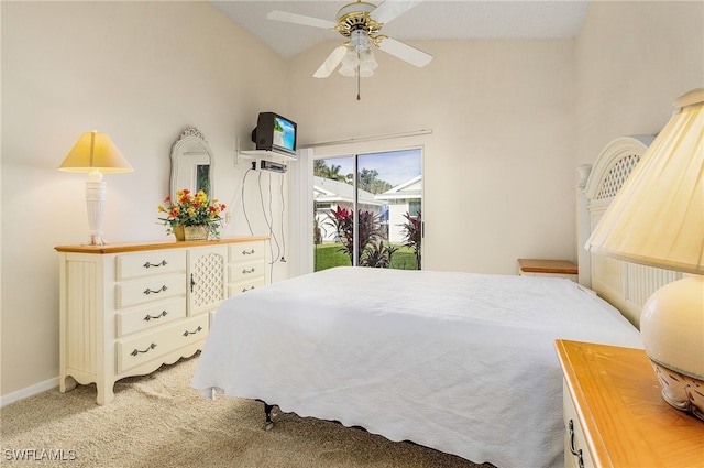
[{"label": "second drawer from top in dresser's left column, under the lamp", "polygon": [[127,281],[116,286],[118,308],[185,295],[186,275],[180,273]]}]

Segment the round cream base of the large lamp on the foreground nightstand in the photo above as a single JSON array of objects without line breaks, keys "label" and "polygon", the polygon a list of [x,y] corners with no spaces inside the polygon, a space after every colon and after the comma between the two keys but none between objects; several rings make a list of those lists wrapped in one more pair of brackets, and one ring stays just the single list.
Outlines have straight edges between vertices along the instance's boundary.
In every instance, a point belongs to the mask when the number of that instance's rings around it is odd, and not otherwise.
[{"label": "round cream base of the large lamp on the foreground nightstand", "polygon": [[656,291],[644,307],[640,334],[662,398],[704,421],[704,276]]}]

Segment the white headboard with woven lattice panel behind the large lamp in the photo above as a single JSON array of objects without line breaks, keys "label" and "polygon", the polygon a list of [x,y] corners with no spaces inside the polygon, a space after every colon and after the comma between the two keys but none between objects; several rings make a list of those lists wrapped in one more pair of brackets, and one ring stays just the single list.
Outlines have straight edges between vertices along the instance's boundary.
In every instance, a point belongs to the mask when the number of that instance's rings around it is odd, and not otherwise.
[{"label": "white headboard with woven lattice panel behind the large lamp", "polygon": [[579,168],[580,283],[596,291],[638,328],[640,313],[648,297],[662,285],[680,279],[681,273],[590,253],[584,244],[652,140],[650,135],[618,138],[606,145],[593,167]]}]

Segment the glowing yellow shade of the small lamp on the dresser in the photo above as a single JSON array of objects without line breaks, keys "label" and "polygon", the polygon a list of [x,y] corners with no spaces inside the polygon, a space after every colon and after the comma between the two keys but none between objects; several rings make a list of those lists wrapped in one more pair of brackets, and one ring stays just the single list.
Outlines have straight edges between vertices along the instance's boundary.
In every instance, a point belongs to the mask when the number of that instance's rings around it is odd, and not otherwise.
[{"label": "glowing yellow shade of the small lamp on the dresser", "polygon": [[78,142],[76,142],[58,170],[67,172],[92,172],[98,170],[101,173],[133,171],[110,138],[96,131],[80,135]]}]

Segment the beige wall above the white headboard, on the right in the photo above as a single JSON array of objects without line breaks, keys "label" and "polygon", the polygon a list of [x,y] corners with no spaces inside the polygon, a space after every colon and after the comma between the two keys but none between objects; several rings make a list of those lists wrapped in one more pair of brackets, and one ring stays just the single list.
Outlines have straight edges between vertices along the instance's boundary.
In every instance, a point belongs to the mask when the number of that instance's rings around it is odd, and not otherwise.
[{"label": "beige wall above the white headboard, on the right", "polygon": [[576,166],[618,137],[658,133],[704,86],[704,2],[594,1],[575,63]]}]

